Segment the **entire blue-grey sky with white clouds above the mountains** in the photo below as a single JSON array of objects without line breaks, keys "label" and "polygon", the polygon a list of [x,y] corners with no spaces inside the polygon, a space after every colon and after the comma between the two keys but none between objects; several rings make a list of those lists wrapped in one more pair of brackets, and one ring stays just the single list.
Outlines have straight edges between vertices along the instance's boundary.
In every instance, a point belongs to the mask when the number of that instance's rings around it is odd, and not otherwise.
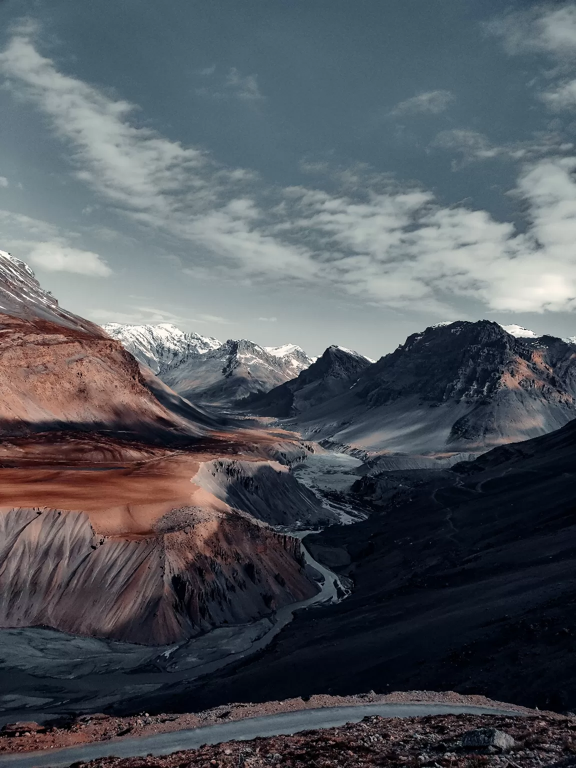
[{"label": "entire blue-grey sky with white clouds above the mountains", "polygon": [[576,2],[0,0],[0,249],[97,323],[576,333]]}]

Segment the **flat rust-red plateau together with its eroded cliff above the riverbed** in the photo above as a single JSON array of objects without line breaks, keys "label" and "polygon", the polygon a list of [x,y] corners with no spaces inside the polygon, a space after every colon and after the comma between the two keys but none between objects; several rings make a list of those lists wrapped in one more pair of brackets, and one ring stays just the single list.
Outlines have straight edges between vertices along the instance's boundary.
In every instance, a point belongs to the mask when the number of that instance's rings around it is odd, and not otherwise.
[{"label": "flat rust-red plateau together with its eroded cliff above the riverbed", "polygon": [[[312,597],[300,542],[248,503],[266,486],[267,510],[289,508],[286,465],[262,461],[302,451],[282,441],[215,432],[191,452],[70,432],[2,440],[0,626],[162,645]],[[297,502],[314,512],[306,493]]]}]

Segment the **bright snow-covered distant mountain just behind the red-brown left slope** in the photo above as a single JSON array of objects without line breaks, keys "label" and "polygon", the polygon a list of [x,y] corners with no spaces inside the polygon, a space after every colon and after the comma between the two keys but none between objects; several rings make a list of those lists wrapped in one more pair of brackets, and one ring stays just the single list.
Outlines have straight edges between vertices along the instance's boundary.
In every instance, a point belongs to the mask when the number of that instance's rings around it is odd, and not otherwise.
[{"label": "bright snow-covered distant mountain just behind the red-brown left slope", "polygon": [[157,326],[106,323],[102,327],[108,336],[117,339],[124,349],[144,362],[154,373],[164,372],[190,355],[204,354],[222,344],[213,336],[184,333],[170,323]]}]

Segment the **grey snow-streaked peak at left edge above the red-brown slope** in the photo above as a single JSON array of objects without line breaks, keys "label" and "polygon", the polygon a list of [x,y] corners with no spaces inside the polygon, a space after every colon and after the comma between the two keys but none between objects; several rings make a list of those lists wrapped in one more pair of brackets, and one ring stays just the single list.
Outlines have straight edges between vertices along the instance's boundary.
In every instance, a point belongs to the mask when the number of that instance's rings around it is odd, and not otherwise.
[{"label": "grey snow-streaked peak at left edge above the red-brown slope", "polygon": [[58,306],[58,300],[44,290],[27,263],[0,250],[0,313],[20,319],[41,319],[66,328],[104,336],[99,326]]}]

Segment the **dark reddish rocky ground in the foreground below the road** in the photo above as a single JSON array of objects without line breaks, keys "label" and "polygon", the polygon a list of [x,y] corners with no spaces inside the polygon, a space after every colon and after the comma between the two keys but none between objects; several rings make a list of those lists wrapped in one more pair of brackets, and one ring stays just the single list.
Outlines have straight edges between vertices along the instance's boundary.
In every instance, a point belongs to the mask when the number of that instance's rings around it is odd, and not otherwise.
[{"label": "dark reddish rocky ground in the foreground below the road", "polygon": [[[478,730],[495,730],[492,739]],[[475,731],[476,738],[471,731]],[[469,742],[472,741],[472,744]],[[492,741],[492,744],[483,743]],[[498,743],[502,746],[498,746]],[[576,756],[576,717],[449,715],[406,719],[366,717],[361,723],[243,742],[203,746],[168,756],[114,757],[102,768],[232,768],[232,766],[568,766]]]}]

